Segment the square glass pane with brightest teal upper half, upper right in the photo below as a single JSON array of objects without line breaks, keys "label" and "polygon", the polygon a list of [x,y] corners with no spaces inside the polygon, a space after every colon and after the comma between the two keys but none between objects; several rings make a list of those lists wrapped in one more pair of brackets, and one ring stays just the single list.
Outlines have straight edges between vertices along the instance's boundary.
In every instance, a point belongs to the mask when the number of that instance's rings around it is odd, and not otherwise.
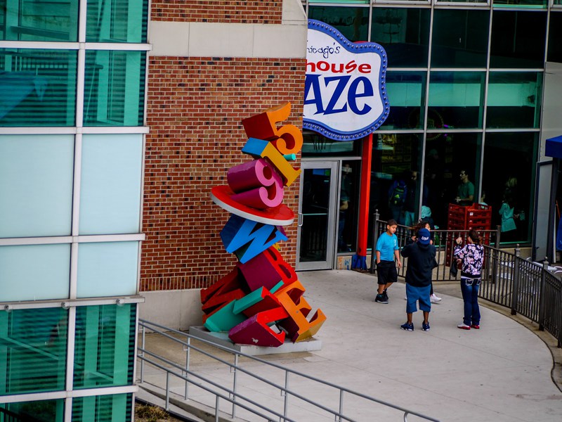
[{"label": "square glass pane with brightest teal upper half, upper right", "polygon": [[490,72],[486,127],[540,127],[542,73]]}]

